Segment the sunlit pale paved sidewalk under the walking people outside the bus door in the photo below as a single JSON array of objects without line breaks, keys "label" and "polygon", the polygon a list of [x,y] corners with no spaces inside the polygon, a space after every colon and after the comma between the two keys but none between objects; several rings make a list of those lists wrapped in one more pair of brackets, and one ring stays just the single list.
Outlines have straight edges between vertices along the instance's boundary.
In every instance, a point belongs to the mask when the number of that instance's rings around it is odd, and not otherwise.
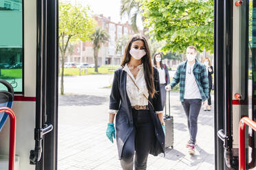
[{"label": "sunlit pale paved sidewalk under the walking people outside the bus door", "polygon": [[[121,169],[116,142],[114,144],[109,142],[105,135],[108,101],[107,95],[60,97],[58,170]],[[171,93],[171,101],[171,114],[174,117],[174,148],[167,149],[165,158],[162,155],[150,155],[147,169],[214,169],[213,110],[200,112],[198,145],[195,147],[195,155],[191,156],[185,147],[189,133],[178,93]]]}]

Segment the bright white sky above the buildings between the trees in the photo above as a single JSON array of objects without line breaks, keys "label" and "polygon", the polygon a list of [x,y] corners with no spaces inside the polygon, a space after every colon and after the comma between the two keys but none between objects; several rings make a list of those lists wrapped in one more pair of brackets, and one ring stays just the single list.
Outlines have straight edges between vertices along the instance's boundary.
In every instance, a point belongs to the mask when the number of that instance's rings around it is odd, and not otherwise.
[{"label": "bright white sky above the buildings between the trees", "polygon": [[[115,23],[126,23],[127,17],[120,18],[121,0],[70,0],[72,3],[81,3],[82,5],[89,5],[94,14],[103,14],[103,16],[110,16],[111,21]],[[142,29],[142,22],[138,20],[138,26]]]}]

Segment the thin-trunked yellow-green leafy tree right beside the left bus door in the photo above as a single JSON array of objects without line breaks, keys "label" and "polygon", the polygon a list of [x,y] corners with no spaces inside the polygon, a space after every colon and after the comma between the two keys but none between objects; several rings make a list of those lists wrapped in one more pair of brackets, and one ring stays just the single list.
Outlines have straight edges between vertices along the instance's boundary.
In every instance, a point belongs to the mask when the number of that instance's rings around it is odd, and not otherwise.
[{"label": "thin-trunked yellow-green leafy tree right beside the left bus door", "polygon": [[61,54],[61,95],[64,95],[63,74],[64,60],[67,46],[70,42],[78,40],[89,40],[95,29],[95,21],[88,16],[89,8],[81,5],[74,6],[70,3],[59,4],[58,18],[58,46]]}]

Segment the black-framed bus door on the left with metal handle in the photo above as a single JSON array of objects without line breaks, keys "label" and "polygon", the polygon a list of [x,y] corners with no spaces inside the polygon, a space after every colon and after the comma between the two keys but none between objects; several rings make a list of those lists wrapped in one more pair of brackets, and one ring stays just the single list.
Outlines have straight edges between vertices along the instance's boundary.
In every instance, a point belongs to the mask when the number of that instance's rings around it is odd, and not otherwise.
[{"label": "black-framed bus door on the left with metal handle", "polygon": [[36,1],[36,119],[30,165],[57,169],[58,0]]}]

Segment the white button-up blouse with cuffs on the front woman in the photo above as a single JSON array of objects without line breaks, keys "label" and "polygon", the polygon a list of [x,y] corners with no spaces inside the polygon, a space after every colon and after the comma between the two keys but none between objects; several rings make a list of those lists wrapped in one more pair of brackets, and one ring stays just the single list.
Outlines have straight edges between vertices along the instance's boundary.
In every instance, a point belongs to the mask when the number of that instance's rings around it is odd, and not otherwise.
[{"label": "white button-up blouse with cuffs on the front woman", "polygon": [[[136,78],[134,75],[131,73],[129,67],[127,64],[125,64],[124,68],[122,69],[123,71],[127,72],[127,81],[126,81],[126,90],[127,90],[127,95],[129,97],[129,100],[131,102],[131,106],[148,106],[149,101],[146,99],[145,96],[149,97],[149,90],[147,90],[147,85],[145,82],[145,77],[144,77],[144,69],[143,69],[143,64],[140,64],[138,66],[138,75]],[[129,75],[131,76],[129,76]],[[136,82],[138,88],[134,85],[134,82],[131,80],[131,78]],[[145,94],[145,96],[143,95]],[[116,114],[118,110],[109,110],[109,113],[111,114]],[[160,113],[162,111],[156,111],[156,114]]]}]

